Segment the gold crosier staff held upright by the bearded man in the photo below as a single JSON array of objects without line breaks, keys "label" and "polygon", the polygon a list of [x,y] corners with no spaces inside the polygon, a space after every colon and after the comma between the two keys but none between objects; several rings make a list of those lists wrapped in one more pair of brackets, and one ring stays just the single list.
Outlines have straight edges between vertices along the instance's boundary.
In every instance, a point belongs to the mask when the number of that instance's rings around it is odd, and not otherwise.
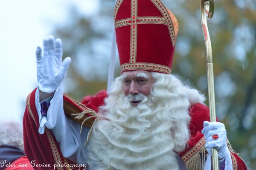
[{"label": "gold crosier staff held upright by the bearded man", "polygon": [[[207,80],[208,80],[208,95],[210,108],[210,121],[216,122],[215,113],[215,96],[214,96],[214,78],[213,78],[213,64],[212,64],[212,45],[209,36],[207,18],[212,18],[214,13],[214,0],[201,0],[201,23],[204,33],[204,41],[207,53]],[[212,170],[218,170],[218,152],[212,148]]]}]

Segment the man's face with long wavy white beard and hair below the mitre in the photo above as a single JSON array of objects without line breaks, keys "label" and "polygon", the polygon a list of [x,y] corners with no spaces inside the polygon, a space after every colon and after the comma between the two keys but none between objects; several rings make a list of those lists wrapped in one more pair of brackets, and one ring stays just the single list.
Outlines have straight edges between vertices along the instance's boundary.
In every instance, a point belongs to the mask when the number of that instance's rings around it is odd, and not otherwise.
[{"label": "man's face with long wavy white beard and hair below the mitre", "polygon": [[203,102],[204,97],[171,74],[122,74],[93,129],[89,166],[93,170],[178,169],[176,153],[189,140],[188,111],[195,100]]}]

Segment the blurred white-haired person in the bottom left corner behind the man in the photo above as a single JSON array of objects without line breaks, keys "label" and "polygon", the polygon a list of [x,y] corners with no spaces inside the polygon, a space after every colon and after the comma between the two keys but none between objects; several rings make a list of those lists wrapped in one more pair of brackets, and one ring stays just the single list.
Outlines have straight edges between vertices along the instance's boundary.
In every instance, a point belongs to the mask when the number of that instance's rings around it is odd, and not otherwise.
[{"label": "blurred white-haired person in the bottom left corner behind the man", "polygon": [[22,125],[0,122],[0,170],[33,170],[24,153]]}]

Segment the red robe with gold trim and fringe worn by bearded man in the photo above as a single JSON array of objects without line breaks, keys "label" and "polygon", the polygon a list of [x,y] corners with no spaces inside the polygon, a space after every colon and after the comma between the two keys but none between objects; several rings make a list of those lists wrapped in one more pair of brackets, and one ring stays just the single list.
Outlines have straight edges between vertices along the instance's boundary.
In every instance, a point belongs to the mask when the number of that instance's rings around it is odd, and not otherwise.
[{"label": "red robe with gold trim and fringe worn by bearded man", "polygon": [[[58,143],[51,132],[51,130],[45,128],[44,134],[39,134],[39,120],[38,113],[35,107],[35,91],[27,97],[26,110],[23,117],[23,135],[24,135],[24,147],[26,156],[29,161],[35,160],[32,164],[35,170],[52,170],[55,166],[57,170],[69,170],[70,166],[73,166],[73,170],[79,169],[79,165],[74,162],[65,159]],[[69,119],[73,119],[76,122],[81,123],[87,116],[91,116],[91,111],[98,111],[98,107],[103,105],[104,99],[107,96],[106,91],[100,91],[96,96],[86,96],[82,102],[78,102],[72,99],[67,94],[64,94],[64,112]],[[82,119],[75,119],[72,113],[84,113]],[[186,149],[179,154],[181,159],[185,162],[188,170],[193,170],[194,166],[200,166],[196,164],[200,161],[200,154],[206,154],[205,139],[201,133],[203,129],[203,122],[209,121],[209,108],[207,106],[197,103],[192,105],[189,109],[191,116],[191,122],[189,124],[189,130],[191,139],[189,140]],[[91,127],[94,119],[89,119],[84,123],[85,126]],[[247,170],[244,161],[230,150],[233,169],[234,170]],[[80,169],[83,169],[82,167]]]}]

